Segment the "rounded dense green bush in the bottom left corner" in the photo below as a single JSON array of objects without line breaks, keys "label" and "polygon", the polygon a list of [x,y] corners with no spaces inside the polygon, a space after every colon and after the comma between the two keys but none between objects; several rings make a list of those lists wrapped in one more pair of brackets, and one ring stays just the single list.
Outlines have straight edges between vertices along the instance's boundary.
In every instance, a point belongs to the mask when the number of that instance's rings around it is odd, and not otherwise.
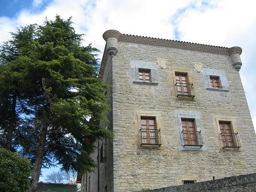
[{"label": "rounded dense green bush in the bottom left corner", "polygon": [[30,186],[31,164],[18,153],[0,147],[0,191],[25,192]]}]

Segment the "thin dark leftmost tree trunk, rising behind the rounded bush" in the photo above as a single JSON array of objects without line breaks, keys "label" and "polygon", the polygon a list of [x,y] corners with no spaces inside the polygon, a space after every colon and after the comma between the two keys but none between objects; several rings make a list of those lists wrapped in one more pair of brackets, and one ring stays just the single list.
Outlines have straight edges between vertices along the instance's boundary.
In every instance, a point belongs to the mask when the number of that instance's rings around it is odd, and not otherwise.
[{"label": "thin dark leftmost tree trunk, rising behind the rounded bush", "polygon": [[12,98],[12,111],[11,111],[11,122],[10,122],[10,127],[8,129],[8,132],[7,132],[7,149],[8,150],[11,150],[12,148],[12,132],[15,128],[15,124],[16,124],[16,95],[14,94],[13,95],[13,98]]}]

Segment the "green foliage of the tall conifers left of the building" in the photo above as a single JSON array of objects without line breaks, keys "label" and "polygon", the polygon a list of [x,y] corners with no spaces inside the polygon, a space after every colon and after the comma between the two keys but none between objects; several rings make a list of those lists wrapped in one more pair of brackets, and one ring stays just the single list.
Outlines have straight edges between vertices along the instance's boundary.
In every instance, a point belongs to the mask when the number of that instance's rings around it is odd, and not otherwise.
[{"label": "green foliage of the tall conifers left of the building", "polygon": [[99,124],[107,121],[108,106],[106,85],[97,74],[98,50],[81,42],[71,18],[56,16],[42,26],[17,29],[0,48],[1,143],[5,146],[10,122],[15,122],[12,147],[21,149],[32,163],[43,126],[47,127],[44,167],[57,160],[64,170],[91,171],[92,143],[112,137]]}]

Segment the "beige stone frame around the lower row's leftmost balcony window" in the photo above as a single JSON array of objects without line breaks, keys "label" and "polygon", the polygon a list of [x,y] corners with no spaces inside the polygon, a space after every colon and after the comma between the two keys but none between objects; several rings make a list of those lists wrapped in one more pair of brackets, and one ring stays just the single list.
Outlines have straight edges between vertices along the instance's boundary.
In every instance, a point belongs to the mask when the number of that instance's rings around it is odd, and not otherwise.
[{"label": "beige stone frame around the lower row's leftmost balcony window", "polygon": [[[154,117],[157,128],[161,130],[161,145],[147,145],[147,146],[141,146],[140,145],[140,127],[141,127],[141,122],[140,119],[141,117]],[[165,146],[165,136],[164,136],[164,119],[161,116],[161,111],[144,111],[144,110],[137,110],[136,111],[136,116],[135,116],[135,121],[134,121],[134,140],[135,140],[135,145],[138,146],[138,148],[143,149],[143,148],[157,148],[157,149],[163,149]]]}]

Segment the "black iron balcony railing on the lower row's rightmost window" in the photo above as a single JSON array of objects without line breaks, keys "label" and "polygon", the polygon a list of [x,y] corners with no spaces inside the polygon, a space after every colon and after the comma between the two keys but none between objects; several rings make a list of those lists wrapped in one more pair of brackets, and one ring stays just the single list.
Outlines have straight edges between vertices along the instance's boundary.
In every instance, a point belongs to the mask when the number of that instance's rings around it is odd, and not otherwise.
[{"label": "black iron balcony railing on the lower row's rightmost window", "polygon": [[238,133],[220,133],[220,139],[222,141],[223,148],[240,148],[240,140],[238,137]]}]

